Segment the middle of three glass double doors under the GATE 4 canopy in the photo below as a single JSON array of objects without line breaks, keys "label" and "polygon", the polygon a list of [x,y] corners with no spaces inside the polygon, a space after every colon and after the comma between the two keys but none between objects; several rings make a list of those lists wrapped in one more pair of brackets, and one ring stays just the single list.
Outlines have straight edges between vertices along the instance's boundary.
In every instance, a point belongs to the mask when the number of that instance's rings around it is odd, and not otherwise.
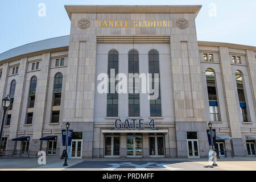
[{"label": "middle of three glass double doors under the GATE 4 canopy", "polygon": [[128,136],[126,145],[127,158],[142,158],[142,137]]}]

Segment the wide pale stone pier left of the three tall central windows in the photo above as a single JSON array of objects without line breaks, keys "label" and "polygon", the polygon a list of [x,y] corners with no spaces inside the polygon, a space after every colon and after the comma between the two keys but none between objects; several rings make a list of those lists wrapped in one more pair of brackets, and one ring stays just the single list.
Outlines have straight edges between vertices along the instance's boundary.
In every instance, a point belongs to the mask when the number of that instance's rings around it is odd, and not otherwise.
[{"label": "wide pale stone pier left of the three tall central windows", "polygon": [[71,35],[69,40],[67,81],[65,85],[64,117],[71,123],[73,132],[84,131],[82,158],[92,158],[94,92],[96,76],[96,28],[86,29],[78,26],[78,21],[86,18],[93,22],[96,14],[72,14]]}]

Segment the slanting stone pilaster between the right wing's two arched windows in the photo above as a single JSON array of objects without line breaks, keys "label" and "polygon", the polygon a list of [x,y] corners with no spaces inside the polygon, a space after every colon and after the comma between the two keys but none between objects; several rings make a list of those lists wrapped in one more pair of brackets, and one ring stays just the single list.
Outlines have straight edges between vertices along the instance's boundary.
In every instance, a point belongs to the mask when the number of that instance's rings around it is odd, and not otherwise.
[{"label": "slanting stone pilaster between the right wing's two arched windows", "polygon": [[227,117],[232,137],[232,150],[235,156],[243,156],[243,141],[240,130],[240,119],[237,110],[236,88],[234,87],[234,77],[229,60],[229,49],[220,47],[220,68],[224,89],[224,98]]}]

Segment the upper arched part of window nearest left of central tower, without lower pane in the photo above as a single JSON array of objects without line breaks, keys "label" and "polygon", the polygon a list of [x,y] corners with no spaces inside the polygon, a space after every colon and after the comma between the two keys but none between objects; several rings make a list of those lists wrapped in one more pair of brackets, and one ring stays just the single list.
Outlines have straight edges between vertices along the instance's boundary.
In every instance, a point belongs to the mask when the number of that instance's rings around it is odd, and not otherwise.
[{"label": "upper arched part of window nearest left of central tower, without lower pane", "polygon": [[62,73],[56,73],[54,77],[54,85],[53,85],[53,106],[59,106],[61,100],[61,90],[62,90]]}]

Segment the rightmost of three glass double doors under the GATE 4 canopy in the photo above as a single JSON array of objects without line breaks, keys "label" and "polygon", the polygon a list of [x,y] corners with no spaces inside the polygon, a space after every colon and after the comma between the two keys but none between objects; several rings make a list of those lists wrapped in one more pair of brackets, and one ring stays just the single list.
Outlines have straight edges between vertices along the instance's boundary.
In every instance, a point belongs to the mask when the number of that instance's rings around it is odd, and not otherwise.
[{"label": "rightmost of three glass double doors under the GATE 4 canopy", "polygon": [[164,138],[162,136],[148,137],[150,157],[164,157]]}]

